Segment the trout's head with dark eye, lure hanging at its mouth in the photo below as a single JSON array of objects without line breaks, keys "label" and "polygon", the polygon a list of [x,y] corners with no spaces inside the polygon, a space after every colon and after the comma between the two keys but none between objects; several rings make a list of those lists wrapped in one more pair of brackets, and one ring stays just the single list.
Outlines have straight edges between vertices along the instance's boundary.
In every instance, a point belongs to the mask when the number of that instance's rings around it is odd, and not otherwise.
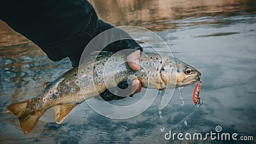
[{"label": "trout's head with dark eye, lure hanging at its mouth", "polygon": [[159,73],[166,88],[190,86],[200,81],[201,77],[201,73],[196,68],[177,58],[165,61]]}]

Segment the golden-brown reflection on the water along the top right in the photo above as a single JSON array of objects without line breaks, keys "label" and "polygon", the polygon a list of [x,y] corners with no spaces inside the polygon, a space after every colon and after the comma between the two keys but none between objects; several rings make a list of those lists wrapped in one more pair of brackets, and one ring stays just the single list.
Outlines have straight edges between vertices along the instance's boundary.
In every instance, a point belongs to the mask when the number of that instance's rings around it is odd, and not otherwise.
[{"label": "golden-brown reflection on the water along the top right", "polygon": [[[220,17],[255,14],[256,8],[253,0],[91,0],[91,3],[100,19],[114,26],[142,26],[152,31],[195,24],[218,26],[228,22]],[[186,24],[179,22],[191,17],[199,20]]]}]

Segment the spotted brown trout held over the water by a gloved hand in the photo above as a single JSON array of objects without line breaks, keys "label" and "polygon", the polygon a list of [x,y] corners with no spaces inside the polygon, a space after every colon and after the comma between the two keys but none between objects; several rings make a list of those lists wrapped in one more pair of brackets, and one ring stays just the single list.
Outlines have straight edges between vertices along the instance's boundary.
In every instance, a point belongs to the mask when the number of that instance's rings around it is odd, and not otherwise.
[{"label": "spotted brown trout held over the water by a gloved hand", "polygon": [[[190,86],[200,81],[200,76],[190,65],[158,52],[141,52],[138,71],[127,65],[125,54],[120,52],[90,56],[79,67],[44,84],[36,97],[11,104],[6,109],[19,118],[24,134],[29,134],[47,109],[55,109],[56,124],[61,124],[77,104],[99,97],[123,81],[138,79],[143,88],[163,90]],[[131,94],[123,93],[123,96]]]}]

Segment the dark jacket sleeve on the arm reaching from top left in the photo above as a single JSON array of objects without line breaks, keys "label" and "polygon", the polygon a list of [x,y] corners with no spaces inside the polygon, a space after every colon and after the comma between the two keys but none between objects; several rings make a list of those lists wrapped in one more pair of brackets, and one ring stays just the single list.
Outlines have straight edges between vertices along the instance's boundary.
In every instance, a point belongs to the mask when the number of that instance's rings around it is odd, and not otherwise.
[{"label": "dark jacket sleeve on the arm reaching from top left", "polygon": [[[78,65],[84,47],[94,36],[114,28],[99,20],[86,0],[1,1],[0,19],[38,45],[52,61],[69,57],[74,66]],[[134,40],[121,44],[123,46],[119,47],[120,43],[115,43],[106,50],[142,50]]]}]

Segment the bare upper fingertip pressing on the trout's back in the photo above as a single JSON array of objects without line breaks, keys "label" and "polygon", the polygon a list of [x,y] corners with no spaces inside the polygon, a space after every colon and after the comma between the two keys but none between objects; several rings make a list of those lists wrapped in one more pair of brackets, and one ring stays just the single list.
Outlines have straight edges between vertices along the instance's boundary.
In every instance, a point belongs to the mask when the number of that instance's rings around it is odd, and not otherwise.
[{"label": "bare upper fingertip pressing on the trout's back", "polygon": [[140,50],[132,52],[126,58],[129,67],[132,70],[140,70]]}]

